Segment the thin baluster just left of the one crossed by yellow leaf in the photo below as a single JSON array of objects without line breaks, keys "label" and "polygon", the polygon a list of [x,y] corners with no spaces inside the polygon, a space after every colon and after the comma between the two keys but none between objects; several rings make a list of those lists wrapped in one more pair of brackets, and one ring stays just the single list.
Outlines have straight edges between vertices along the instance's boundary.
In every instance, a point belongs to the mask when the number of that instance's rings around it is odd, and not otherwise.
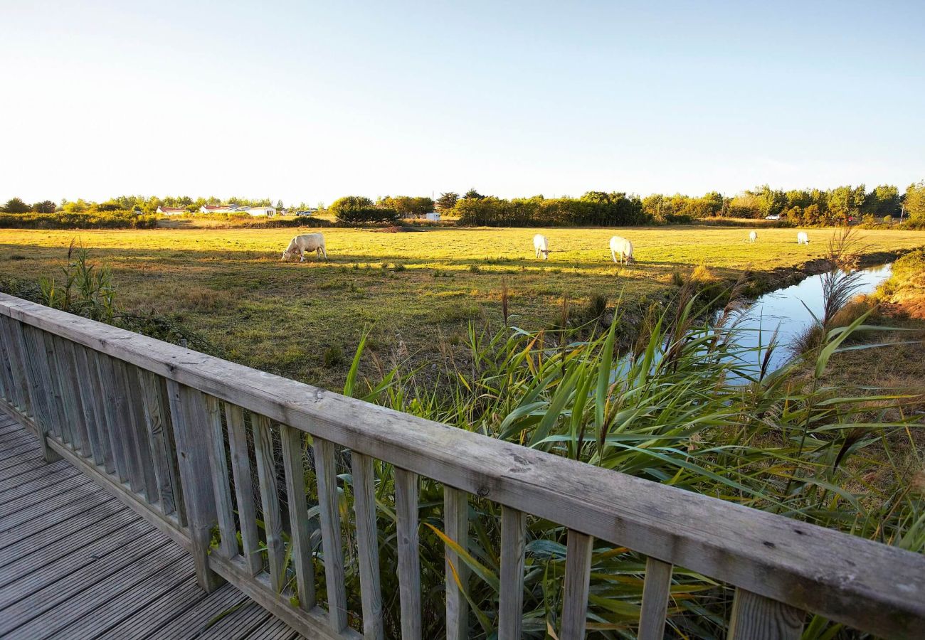
[{"label": "thin baluster just left of the one crossed by yellow leaf", "polygon": [[402,640],[421,638],[421,560],[418,557],[417,474],[395,467]]}]

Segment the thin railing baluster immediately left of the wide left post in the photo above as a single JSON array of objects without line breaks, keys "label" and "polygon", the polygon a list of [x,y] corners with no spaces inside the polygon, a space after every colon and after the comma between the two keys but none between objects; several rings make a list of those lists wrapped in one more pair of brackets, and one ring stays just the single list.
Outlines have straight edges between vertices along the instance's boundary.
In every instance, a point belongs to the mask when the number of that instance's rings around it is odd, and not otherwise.
[{"label": "thin railing baluster immediately left of the wide left post", "polygon": [[169,437],[171,427],[168,412],[160,393],[161,380],[144,369],[137,369],[136,374],[142,397],[144,422],[151,443],[154,481],[157,483],[157,493],[161,500],[161,511],[165,515],[176,511],[179,515],[181,510],[178,509],[177,501],[181,500],[182,496],[179,491],[179,474],[174,464],[173,438]]}]

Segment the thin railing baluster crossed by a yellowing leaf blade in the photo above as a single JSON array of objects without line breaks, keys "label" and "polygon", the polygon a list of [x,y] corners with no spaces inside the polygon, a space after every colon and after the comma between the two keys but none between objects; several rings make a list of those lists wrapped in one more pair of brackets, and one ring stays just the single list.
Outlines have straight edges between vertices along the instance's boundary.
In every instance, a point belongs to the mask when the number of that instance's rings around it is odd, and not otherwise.
[{"label": "thin railing baluster crossed by a yellowing leaf blade", "polygon": [[[469,494],[452,486],[443,487],[443,533],[463,549],[469,547]],[[449,545],[446,555],[447,640],[469,637],[469,601],[459,583],[468,588],[469,567]]]}]

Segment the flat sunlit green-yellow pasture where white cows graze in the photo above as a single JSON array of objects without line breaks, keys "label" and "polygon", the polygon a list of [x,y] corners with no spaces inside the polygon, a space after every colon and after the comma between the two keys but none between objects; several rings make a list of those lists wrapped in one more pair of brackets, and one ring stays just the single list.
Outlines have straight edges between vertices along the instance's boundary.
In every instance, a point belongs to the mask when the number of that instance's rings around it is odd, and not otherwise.
[{"label": "flat sunlit green-yellow pasture where white cows graze", "polygon": [[[0,277],[60,273],[78,240],[112,269],[123,306],[176,314],[231,360],[336,387],[364,327],[373,327],[370,346],[386,365],[409,355],[426,363],[458,343],[470,320],[500,319],[503,283],[512,324],[539,328],[558,317],[563,298],[574,308],[593,295],[611,304],[663,300],[672,272],[697,265],[722,278],[798,267],[820,257],[833,233],[808,230],[807,247],[795,229],[761,229],[748,244],[743,228],[329,228],[329,262],[279,262],[296,232],[3,229]],[[536,232],[549,238],[549,261],[534,258]],[[635,265],[611,262],[614,233],[634,242]],[[868,252],[925,245],[923,232],[860,235]]]}]

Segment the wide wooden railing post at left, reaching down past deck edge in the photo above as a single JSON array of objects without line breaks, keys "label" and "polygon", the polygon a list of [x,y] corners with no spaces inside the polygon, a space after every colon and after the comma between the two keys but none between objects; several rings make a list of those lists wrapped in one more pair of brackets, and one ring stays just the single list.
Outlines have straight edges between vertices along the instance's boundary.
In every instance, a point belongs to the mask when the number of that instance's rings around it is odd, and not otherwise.
[{"label": "wide wooden railing post at left, reaching down past deck edge", "polygon": [[212,465],[209,462],[208,412],[203,393],[167,380],[170,417],[177,443],[180,485],[190,528],[192,561],[196,582],[207,593],[221,585],[218,574],[209,567],[209,541],[217,523],[216,497],[212,489]]}]

